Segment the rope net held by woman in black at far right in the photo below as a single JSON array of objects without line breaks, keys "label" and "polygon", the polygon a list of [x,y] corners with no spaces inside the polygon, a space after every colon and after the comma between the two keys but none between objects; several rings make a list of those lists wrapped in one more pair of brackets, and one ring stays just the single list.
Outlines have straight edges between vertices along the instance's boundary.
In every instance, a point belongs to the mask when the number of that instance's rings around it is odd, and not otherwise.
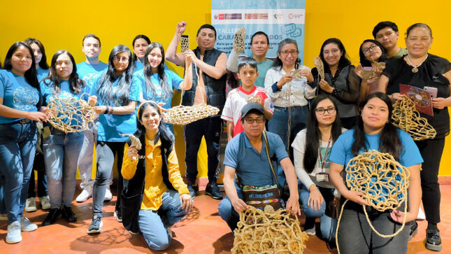
[{"label": "rope net held by woman in black at far right", "polygon": [[393,105],[393,125],[407,132],[413,140],[434,139],[437,132],[429,125],[426,118],[422,118],[415,109],[415,103],[406,94],[403,99]]}]

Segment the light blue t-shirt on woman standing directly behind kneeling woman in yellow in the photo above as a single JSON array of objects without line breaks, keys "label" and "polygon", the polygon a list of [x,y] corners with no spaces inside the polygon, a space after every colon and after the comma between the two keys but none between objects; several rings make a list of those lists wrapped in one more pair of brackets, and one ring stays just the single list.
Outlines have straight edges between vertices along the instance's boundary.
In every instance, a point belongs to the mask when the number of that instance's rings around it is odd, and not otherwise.
[{"label": "light blue t-shirt on woman standing directly behind kneeling woman in yellow", "polygon": [[[180,76],[177,75],[177,73],[171,71],[171,70],[164,70],[164,73],[166,75],[166,82],[169,85],[169,88],[173,90],[176,88],[178,90],[178,86],[180,83],[182,83],[183,78],[180,78]],[[155,86],[155,93],[152,92],[152,90],[147,90],[145,85],[145,77],[144,77],[144,71],[137,71],[133,74],[133,83],[136,85],[136,87],[140,87],[141,92],[143,93],[143,99],[145,100],[152,100],[157,103],[163,102],[164,106],[163,108],[169,109],[171,108],[172,103],[172,94],[163,94],[162,86],[160,85],[159,75],[158,73],[152,73],[150,76],[150,80],[152,81],[152,84]]]}]

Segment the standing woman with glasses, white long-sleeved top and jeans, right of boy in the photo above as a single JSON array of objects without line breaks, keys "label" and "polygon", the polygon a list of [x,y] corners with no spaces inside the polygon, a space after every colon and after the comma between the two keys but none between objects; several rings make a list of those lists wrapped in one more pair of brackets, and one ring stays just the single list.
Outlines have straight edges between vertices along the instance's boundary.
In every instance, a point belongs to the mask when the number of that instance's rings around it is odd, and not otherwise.
[{"label": "standing woman with glasses, white long-sleeved top and jeans, right of boy", "polygon": [[301,65],[298,56],[295,40],[286,38],[280,41],[277,58],[265,78],[265,89],[274,104],[268,129],[280,136],[287,150],[294,136],[306,127],[308,99],[315,96],[315,88],[308,85],[314,81],[310,68]]}]

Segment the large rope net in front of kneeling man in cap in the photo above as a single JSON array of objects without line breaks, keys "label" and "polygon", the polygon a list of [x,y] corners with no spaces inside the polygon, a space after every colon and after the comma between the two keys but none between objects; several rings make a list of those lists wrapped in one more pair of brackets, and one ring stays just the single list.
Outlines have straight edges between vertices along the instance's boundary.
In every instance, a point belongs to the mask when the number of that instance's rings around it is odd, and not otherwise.
[{"label": "large rope net in front of kneeling man in cap", "polygon": [[266,206],[265,211],[249,206],[240,213],[234,234],[231,252],[235,254],[303,253],[308,240],[297,217],[291,218],[285,209],[274,211],[272,206]]}]

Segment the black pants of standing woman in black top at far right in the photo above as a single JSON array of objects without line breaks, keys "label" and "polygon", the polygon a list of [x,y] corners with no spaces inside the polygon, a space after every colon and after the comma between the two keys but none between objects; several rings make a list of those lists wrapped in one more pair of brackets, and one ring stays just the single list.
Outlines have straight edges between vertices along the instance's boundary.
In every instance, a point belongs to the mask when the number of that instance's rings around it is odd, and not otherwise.
[{"label": "black pants of standing woman in black top at far right", "polygon": [[423,157],[421,189],[424,214],[429,223],[440,223],[440,186],[438,185],[438,168],[445,148],[445,138],[415,141]]}]

